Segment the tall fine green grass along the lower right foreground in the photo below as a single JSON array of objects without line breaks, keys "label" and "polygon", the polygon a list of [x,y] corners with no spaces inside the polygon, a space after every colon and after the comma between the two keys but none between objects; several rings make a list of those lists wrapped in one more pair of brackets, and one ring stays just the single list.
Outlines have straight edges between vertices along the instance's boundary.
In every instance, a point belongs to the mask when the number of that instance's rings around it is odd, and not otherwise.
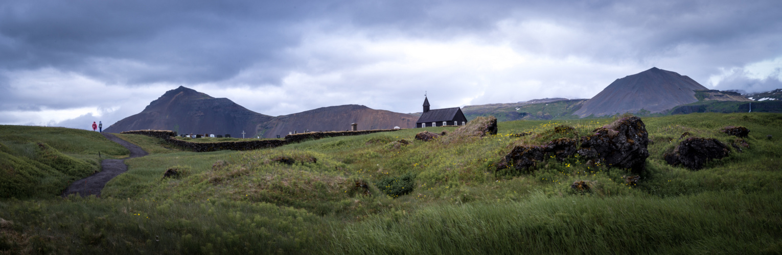
[{"label": "tall fine green grass along the lower right foreground", "polygon": [[329,246],[348,254],[780,253],[780,195],[533,196],[439,205],[332,224]]}]

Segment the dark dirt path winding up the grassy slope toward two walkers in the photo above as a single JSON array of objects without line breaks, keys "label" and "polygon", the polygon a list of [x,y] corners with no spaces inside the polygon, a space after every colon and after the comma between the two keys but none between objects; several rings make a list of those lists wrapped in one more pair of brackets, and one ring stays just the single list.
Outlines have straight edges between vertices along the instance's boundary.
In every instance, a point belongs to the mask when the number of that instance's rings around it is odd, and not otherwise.
[{"label": "dark dirt path winding up the grassy slope toward two walkers", "polygon": [[[110,133],[102,134],[109,140],[112,140],[115,143],[120,143],[120,145],[126,147],[127,150],[130,150],[131,157],[128,158],[138,158],[148,154],[146,151],[142,150],[141,147],[138,147],[133,143],[129,143],[126,140],[122,140],[120,137],[114,136]],[[117,177],[117,175],[127,171],[127,165],[125,165],[124,159],[103,160],[101,162],[101,168],[101,172],[71,183],[68,189],[66,189],[63,193],[63,197],[74,193],[78,193],[81,195],[81,197],[87,197],[89,195],[100,197],[100,191],[103,189],[103,186],[106,186],[106,182],[109,182],[109,180]]]}]

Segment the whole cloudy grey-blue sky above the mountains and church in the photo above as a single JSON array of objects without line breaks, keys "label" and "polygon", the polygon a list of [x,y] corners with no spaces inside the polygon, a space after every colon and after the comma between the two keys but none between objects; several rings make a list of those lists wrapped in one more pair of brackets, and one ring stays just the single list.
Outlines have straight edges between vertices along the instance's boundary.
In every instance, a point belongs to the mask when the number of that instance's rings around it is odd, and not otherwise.
[{"label": "whole cloudy grey-blue sky above the mountains and church", "polygon": [[770,1],[0,1],[0,124],[106,126],[190,87],[266,115],[590,98],[651,67],[782,88]]}]

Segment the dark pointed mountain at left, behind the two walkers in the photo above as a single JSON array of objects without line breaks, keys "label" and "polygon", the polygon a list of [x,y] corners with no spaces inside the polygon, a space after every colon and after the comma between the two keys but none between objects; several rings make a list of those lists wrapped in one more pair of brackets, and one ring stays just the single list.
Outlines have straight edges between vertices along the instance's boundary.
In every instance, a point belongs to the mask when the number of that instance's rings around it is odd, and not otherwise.
[{"label": "dark pointed mountain at left, behind the two walkers", "polygon": [[273,117],[262,115],[236,104],[228,98],[178,87],[149,103],[144,111],[131,115],[106,128],[120,133],[139,129],[167,129],[177,133],[215,133],[241,136],[242,131],[256,129]]}]

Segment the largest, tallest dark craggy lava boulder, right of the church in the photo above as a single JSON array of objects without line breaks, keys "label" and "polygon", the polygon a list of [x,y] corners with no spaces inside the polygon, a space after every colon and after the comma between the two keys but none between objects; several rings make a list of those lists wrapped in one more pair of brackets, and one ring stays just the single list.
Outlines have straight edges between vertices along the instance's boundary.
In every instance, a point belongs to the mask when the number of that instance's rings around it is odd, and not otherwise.
[{"label": "largest, tallest dark craggy lava boulder, right of the church", "polygon": [[649,137],[646,125],[640,118],[633,116],[618,119],[593,132],[581,143],[583,149],[579,154],[597,154],[597,160],[604,161],[605,165],[630,168],[634,173],[644,170],[646,158],[649,158]]}]

